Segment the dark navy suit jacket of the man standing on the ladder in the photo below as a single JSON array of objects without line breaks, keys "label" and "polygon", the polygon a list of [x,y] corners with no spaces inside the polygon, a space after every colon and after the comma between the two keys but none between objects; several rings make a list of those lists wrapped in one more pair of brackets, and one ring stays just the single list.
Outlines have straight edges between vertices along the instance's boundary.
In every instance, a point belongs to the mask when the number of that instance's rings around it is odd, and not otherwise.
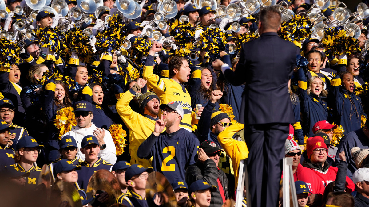
[{"label": "dark navy suit jacket of the man standing on the ladder", "polygon": [[295,122],[287,85],[297,54],[299,48],[275,32],[242,44],[235,72],[224,71],[232,85],[245,83],[240,123]]}]

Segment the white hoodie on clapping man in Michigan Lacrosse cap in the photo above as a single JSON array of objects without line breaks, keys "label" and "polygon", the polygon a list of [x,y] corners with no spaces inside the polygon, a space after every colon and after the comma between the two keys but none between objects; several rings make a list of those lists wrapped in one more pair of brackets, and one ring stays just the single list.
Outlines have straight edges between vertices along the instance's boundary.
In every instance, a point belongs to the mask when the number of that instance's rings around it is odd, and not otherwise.
[{"label": "white hoodie on clapping man in Michigan Lacrosse cap", "polygon": [[[67,133],[63,134],[62,137],[66,135],[70,135],[75,138],[78,147],[78,154],[77,158],[81,160],[85,160],[85,155],[82,154],[82,139],[87,135],[93,135],[93,131],[96,130],[95,124],[92,123],[91,127],[89,128],[80,128],[78,125],[73,126],[72,130],[68,131]],[[105,129],[104,129],[105,130]],[[113,138],[111,138],[111,134],[109,131],[105,130],[104,142],[106,144],[106,148],[104,150],[100,150],[100,153],[97,155],[101,157],[101,159],[109,162],[110,164],[114,165],[117,162],[117,152],[115,151],[115,144]]]}]

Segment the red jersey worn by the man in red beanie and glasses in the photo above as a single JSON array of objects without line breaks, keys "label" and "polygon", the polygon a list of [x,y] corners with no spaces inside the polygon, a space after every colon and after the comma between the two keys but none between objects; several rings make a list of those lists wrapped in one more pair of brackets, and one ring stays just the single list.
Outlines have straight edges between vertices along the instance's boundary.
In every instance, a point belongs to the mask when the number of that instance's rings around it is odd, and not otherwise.
[{"label": "red jersey worn by the man in red beanie and glasses", "polygon": [[[308,168],[306,171],[304,167],[304,173],[301,173],[299,179],[307,183],[309,190],[313,194],[323,195],[325,186],[336,180],[338,168],[329,166],[329,168],[322,172],[317,169]],[[355,185],[352,180],[346,176],[346,187],[354,191]]]}]

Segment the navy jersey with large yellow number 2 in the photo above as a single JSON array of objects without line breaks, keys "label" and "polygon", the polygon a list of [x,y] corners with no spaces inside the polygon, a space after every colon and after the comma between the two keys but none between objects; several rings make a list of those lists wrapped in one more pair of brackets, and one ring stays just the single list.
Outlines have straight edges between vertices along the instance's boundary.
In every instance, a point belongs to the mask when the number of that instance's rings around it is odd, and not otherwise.
[{"label": "navy jersey with large yellow number 2", "polygon": [[139,147],[137,156],[150,159],[154,171],[163,173],[169,183],[186,179],[186,168],[196,162],[200,142],[186,129],[173,133],[151,134]]}]

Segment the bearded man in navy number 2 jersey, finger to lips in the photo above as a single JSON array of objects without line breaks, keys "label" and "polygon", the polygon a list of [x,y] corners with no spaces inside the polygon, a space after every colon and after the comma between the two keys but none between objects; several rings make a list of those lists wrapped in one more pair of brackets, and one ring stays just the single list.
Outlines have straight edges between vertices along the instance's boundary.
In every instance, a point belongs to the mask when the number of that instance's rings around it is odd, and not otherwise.
[{"label": "bearded man in navy number 2 jersey, finger to lips", "polygon": [[179,126],[183,117],[179,102],[161,104],[160,109],[162,118],[156,120],[154,132],[138,147],[137,156],[152,157],[154,171],[161,172],[169,183],[185,180],[186,168],[195,163],[200,142],[193,133]]}]

